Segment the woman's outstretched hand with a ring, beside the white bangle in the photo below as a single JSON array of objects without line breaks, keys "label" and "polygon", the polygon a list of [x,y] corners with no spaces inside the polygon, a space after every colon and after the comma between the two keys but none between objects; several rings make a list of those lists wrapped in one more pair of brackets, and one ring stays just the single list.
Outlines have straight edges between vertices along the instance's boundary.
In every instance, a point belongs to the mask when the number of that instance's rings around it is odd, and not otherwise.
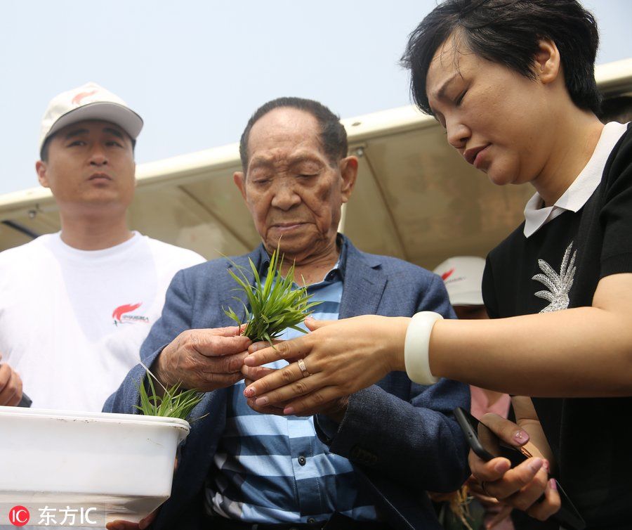
[{"label": "woman's outstretched hand with a ring, beside the white bangle", "polygon": [[301,415],[322,403],[354,394],[393,370],[404,369],[404,339],[410,318],[356,316],[340,321],[305,319],[312,332],[272,347],[253,344],[246,366],[262,366],[279,359],[304,359],[276,370],[244,391],[256,406],[287,402],[284,414]]}]

